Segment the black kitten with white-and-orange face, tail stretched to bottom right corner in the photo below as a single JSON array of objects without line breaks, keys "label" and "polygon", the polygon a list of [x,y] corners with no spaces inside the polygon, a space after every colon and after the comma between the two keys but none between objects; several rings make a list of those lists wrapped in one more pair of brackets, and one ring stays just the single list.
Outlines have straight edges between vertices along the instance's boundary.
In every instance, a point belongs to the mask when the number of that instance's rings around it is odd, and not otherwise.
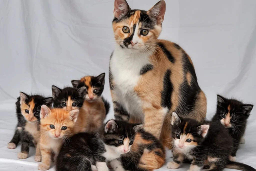
[{"label": "black kitten with white-and-orange face, tail stretched to bottom right corner", "polygon": [[191,160],[190,171],[203,167],[211,171],[221,171],[225,167],[254,170],[251,166],[229,161],[232,152],[232,137],[228,130],[215,121],[198,122],[194,119],[172,117],[173,162],[167,167],[177,169],[184,159]]}]

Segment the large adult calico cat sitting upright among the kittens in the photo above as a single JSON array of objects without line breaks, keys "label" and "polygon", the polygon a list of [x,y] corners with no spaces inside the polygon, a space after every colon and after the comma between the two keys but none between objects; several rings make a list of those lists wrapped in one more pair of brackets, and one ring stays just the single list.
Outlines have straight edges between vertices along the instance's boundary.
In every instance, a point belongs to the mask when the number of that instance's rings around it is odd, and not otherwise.
[{"label": "large adult calico cat sitting upright among the kittens", "polygon": [[132,10],[115,0],[112,27],[116,45],[110,57],[109,84],[116,119],[136,120],[168,148],[172,112],[204,120],[206,96],[194,65],[177,44],[158,39],[166,4]]}]

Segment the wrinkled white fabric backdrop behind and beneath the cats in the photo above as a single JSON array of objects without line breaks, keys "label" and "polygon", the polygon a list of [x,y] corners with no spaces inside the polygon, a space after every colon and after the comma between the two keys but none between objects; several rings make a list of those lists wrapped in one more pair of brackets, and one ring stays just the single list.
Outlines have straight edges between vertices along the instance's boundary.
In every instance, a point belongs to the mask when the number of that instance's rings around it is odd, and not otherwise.
[{"label": "wrinkled white fabric backdrop behind and beneath the cats", "polygon": [[[148,10],[157,0],[127,2],[132,9]],[[103,96],[111,101],[113,4],[114,0],[0,0],[1,169],[37,169],[33,154],[19,163],[20,147],[6,148],[16,124],[14,102],[19,91],[51,95],[53,84],[71,86],[71,79],[105,72]],[[192,58],[207,96],[207,118],[215,112],[217,93],[256,104],[255,0],[166,0],[160,38],[178,43]],[[254,167],[255,111],[246,144],[238,151],[238,160]],[[108,118],[112,116],[111,110]]]}]

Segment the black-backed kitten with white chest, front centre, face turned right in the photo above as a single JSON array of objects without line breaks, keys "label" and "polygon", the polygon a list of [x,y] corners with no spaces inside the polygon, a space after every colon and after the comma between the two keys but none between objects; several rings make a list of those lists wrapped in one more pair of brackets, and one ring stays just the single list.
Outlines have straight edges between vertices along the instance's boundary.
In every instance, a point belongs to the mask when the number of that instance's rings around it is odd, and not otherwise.
[{"label": "black-backed kitten with white chest, front centre, face turned right", "polygon": [[98,133],[79,133],[63,144],[57,158],[57,171],[109,170],[106,162],[128,153],[134,141],[134,125],[109,120]]}]

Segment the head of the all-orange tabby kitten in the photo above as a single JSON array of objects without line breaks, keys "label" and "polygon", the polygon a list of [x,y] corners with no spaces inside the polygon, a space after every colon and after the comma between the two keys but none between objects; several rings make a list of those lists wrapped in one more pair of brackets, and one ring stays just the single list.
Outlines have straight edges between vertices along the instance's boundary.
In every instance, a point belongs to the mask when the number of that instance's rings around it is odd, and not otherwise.
[{"label": "head of the all-orange tabby kitten", "polygon": [[61,108],[48,108],[46,105],[41,106],[41,134],[50,136],[54,139],[70,137],[79,110],[74,109],[69,112]]}]

